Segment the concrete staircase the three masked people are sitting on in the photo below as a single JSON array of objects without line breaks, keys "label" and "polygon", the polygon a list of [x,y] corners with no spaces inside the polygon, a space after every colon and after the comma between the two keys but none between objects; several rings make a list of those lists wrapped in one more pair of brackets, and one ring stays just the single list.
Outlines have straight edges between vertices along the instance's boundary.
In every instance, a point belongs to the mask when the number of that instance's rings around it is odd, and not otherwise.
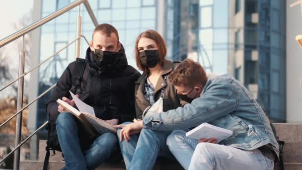
[{"label": "concrete staircase the three masked people are sitting on", "polygon": [[[294,123],[274,123],[277,136],[285,141],[284,146],[284,167],[285,170],[302,170],[302,124]],[[41,170],[45,158],[46,141],[39,142],[39,156],[37,161],[21,161],[20,170]],[[51,153],[52,155],[52,153]],[[64,167],[62,153],[49,159],[49,170],[60,170]],[[124,162],[119,164],[102,164],[96,170],[125,170]],[[166,163],[157,161],[153,170],[182,170],[178,163]],[[275,165],[274,170],[280,170],[279,165]]]}]

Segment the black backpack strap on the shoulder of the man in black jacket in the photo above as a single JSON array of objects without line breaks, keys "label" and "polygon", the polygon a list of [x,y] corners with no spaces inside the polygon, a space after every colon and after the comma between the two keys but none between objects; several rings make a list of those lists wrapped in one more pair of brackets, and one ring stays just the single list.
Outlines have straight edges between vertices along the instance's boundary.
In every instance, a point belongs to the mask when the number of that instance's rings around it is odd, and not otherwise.
[{"label": "black backpack strap on the shoulder of the man in black jacket", "polygon": [[82,92],[81,80],[86,67],[85,59],[76,58],[75,69],[72,74],[72,88],[70,89],[74,94]]}]

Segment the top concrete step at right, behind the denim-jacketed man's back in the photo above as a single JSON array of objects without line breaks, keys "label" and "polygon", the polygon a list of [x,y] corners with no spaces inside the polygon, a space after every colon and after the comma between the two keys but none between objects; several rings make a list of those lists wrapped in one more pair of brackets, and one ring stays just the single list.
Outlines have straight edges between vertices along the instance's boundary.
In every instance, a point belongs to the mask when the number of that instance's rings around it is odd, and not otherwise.
[{"label": "top concrete step at right, behind the denim-jacketed man's back", "polygon": [[302,123],[273,123],[281,141],[302,142]]}]

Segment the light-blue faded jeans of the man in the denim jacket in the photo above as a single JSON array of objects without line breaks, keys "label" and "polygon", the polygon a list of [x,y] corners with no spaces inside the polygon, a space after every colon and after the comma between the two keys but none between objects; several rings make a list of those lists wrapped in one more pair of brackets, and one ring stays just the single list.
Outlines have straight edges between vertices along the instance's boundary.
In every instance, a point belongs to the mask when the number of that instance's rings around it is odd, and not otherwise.
[{"label": "light-blue faded jeans of the man in the denim jacket", "polygon": [[258,150],[246,151],[225,145],[199,143],[186,132],[173,131],[167,145],[185,170],[273,170],[274,161]]}]

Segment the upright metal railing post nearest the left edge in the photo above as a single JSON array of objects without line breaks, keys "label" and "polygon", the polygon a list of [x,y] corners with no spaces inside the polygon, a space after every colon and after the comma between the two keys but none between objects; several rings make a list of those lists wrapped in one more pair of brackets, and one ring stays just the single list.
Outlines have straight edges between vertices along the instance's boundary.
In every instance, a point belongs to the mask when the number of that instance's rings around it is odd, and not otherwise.
[{"label": "upright metal railing post nearest the left edge", "polygon": [[[25,65],[25,51],[24,51],[24,35],[22,40],[22,50],[19,55],[19,76],[24,73]],[[23,106],[23,87],[24,87],[24,77],[18,80],[18,94],[17,94],[17,110],[21,110]],[[21,127],[22,127],[22,112],[17,115],[16,118],[16,138],[15,147],[20,144],[21,141]],[[18,148],[14,153],[13,169],[19,170],[20,166],[20,148]]]}]

